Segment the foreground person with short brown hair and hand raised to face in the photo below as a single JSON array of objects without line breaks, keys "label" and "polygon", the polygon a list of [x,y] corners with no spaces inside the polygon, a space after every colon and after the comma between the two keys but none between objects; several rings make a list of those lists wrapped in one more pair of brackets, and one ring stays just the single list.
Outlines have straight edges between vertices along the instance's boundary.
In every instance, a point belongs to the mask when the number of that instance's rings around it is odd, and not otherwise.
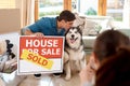
[{"label": "foreground person with short brown hair and hand raised to face", "polygon": [[87,67],[80,72],[81,86],[93,86],[100,63],[116,53],[119,46],[130,46],[127,35],[117,30],[106,30],[98,35]]}]

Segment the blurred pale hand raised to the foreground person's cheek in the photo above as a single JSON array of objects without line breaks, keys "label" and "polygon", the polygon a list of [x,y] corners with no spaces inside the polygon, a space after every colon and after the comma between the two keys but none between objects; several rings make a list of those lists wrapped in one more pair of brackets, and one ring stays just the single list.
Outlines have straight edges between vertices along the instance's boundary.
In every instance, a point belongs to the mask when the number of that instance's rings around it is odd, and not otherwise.
[{"label": "blurred pale hand raised to the foreground person's cheek", "polygon": [[95,72],[99,68],[99,62],[96,62],[94,56],[92,55],[89,59],[89,62],[84,69],[79,73],[81,86],[83,84],[94,84]]}]

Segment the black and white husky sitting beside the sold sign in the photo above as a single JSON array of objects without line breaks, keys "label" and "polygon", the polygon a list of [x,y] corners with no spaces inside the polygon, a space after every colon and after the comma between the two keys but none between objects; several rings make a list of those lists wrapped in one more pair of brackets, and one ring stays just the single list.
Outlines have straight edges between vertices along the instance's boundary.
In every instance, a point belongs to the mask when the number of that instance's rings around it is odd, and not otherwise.
[{"label": "black and white husky sitting beside the sold sign", "polygon": [[70,80],[73,71],[80,71],[86,67],[82,34],[78,27],[72,27],[65,33],[64,71],[65,80]]}]

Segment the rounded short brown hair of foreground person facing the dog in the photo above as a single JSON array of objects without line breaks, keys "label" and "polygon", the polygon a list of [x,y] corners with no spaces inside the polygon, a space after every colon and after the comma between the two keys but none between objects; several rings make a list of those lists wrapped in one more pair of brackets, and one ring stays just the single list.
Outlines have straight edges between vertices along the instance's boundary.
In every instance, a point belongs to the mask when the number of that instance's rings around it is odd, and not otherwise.
[{"label": "rounded short brown hair of foreground person facing the dog", "polygon": [[115,54],[119,46],[130,46],[129,38],[117,30],[106,30],[98,35],[93,52],[101,61]]}]

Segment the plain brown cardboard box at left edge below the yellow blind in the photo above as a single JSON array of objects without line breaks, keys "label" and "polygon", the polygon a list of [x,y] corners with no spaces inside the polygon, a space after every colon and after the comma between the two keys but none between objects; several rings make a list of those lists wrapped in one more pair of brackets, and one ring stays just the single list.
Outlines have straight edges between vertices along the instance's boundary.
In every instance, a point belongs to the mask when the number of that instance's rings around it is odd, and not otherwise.
[{"label": "plain brown cardboard box at left edge below the yellow blind", "polygon": [[21,29],[20,9],[0,9],[0,33]]}]

